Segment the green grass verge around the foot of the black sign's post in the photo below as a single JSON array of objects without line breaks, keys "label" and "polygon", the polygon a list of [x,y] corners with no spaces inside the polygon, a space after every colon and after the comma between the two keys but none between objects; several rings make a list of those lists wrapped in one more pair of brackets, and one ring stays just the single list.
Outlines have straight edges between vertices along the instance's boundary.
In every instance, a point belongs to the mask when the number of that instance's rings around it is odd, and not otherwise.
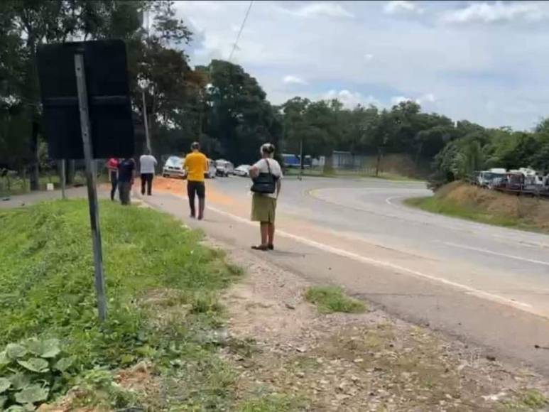
[{"label": "green grass verge around the foot of the black sign's post", "polygon": [[[72,360],[63,379],[45,387],[48,401],[77,384],[89,387],[80,397],[87,405],[112,408],[219,410],[232,402],[234,375],[217,356],[225,341],[217,293],[239,270],[201,246],[200,234],[154,210],[102,202],[109,318],[100,324],[85,201],[2,211],[0,227],[0,352],[31,337],[56,338]],[[109,376],[140,362],[153,365],[163,396],[110,396]],[[2,377],[13,379],[0,362]],[[39,377],[28,376],[40,384]]]}]

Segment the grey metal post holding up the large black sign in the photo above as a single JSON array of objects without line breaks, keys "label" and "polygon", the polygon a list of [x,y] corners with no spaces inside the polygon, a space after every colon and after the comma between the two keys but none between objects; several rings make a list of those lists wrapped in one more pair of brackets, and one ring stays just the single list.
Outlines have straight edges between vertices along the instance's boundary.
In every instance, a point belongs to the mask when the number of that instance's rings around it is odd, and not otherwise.
[{"label": "grey metal post holding up the large black sign", "polygon": [[87,107],[86,74],[84,56],[75,55],[76,85],[78,89],[78,107],[80,108],[80,129],[84,143],[86,160],[87,197],[89,202],[89,223],[92,227],[92,242],[94,249],[95,290],[97,291],[97,310],[99,320],[107,319],[107,300],[105,298],[105,280],[103,276],[103,253],[101,246],[101,231],[99,229],[99,208],[97,205],[97,188],[95,185],[95,162],[93,161],[92,141],[89,127],[89,112]]}]

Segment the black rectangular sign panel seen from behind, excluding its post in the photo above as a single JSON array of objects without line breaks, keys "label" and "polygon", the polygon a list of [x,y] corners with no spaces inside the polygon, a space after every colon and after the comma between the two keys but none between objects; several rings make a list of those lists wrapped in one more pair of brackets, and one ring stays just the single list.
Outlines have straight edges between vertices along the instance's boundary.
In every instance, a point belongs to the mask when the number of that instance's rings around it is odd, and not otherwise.
[{"label": "black rectangular sign panel seen from behind, excluding its post", "polygon": [[122,40],[42,45],[38,77],[51,158],[84,158],[75,54],[84,58],[94,158],[134,155],[134,124]]}]

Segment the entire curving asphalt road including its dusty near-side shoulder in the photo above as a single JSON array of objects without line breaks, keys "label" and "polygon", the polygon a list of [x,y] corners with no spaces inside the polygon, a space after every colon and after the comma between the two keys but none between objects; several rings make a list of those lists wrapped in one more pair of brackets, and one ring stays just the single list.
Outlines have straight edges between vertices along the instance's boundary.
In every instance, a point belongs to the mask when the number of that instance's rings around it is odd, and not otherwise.
[{"label": "entire curving asphalt road including its dusty near-side shoulder", "polygon": [[[257,224],[248,219],[247,179],[209,181],[207,193],[207,218],[190,222],[193,227],[245,248],[258,242]],[[402,204],[425,195],[423,183],[286,179],[276,251],[257,253],[310,281],[341,285],[402,318],[549,372],[549,349],[543,349],[549,347],[549,237]],[[183,196],[157,193],[147,201],[187,214]]]}]

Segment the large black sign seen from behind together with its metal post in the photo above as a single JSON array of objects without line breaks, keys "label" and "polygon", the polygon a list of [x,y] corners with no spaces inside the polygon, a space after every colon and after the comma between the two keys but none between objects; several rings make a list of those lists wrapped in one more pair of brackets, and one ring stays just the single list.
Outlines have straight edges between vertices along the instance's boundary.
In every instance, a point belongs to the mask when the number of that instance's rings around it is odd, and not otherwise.
[{"label": "large black sign seen from behind together with its metal post", "polygon": [[107,297],[96,159],[134,156],[126,45],[121,40],[40,45],[37,61],[50,157],[62,159],[62,175],[66,159],[85,159],[97,311],[103,322]]}]

